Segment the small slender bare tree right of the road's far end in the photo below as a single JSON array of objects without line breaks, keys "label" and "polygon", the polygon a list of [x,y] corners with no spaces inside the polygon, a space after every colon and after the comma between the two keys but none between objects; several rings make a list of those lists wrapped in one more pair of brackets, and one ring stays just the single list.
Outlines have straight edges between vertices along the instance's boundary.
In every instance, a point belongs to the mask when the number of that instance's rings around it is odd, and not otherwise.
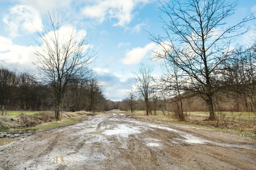
[{"label": "small slender bare tree right of the road's far end", "polygon": [[152,71],[153,66],[140,63],[137,71],[134,72],[134,82],[132,82],[137,89],[138,94],[141,96],[141,99],[145,103],[146,115],[151,113],[150,100],[154,91]]}]

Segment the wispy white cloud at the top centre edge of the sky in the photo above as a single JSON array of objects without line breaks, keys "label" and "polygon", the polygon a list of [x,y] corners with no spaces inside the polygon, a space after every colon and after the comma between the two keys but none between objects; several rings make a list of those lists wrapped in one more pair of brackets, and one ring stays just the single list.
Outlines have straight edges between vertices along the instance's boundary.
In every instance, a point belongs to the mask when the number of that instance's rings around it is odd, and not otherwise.
[{"label": "wispy white cloud at the top centre edge of the sky", "polygon": [[92,6],[83,8],[85,17],[95,18],[102,23],[106,18],[117,19],[113,26],[126,26],[134,18],[134,8],[141,3],[148,3],[149,0],[101,0],[96,1]]}]

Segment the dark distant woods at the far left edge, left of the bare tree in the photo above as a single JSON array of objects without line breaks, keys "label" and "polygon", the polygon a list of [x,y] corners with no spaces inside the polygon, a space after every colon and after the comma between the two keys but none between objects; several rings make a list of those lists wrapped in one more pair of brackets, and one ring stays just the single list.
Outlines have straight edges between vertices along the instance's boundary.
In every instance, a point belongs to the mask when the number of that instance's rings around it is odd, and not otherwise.
[{"label": "dark distant woods at the far left edge, left of the bare tree", "polygon": [[18,72],[0,65],[0,105],[9,110],[38,110],[47,96],[28,71]]}]

